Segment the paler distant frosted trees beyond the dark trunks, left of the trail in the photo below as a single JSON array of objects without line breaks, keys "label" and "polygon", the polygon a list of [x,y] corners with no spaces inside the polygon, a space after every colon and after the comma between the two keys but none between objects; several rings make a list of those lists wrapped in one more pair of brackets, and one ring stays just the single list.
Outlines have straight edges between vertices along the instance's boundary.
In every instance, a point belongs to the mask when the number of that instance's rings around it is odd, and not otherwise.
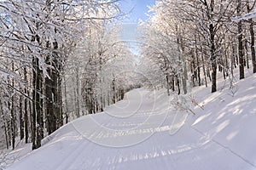
[{"label": "paler distant frosted trees beyond the dark trunks, left of the trail", "polygon": [[[67,116],[79,117],[103,111],[105,106],[119,100],[117,82],[126,77],[116,75],[122,70],[131,70],[134,65],[128,46],[119,39],[119,26],[108,20],[89,25],[74,48],[73,56],[67,59],[64,74],[65,87],[70,89],[65,93],[64,108],[71,114]],[[125,62],[127,59],[130,62]],[[123,84],[120,88],[125,87]]]}]

